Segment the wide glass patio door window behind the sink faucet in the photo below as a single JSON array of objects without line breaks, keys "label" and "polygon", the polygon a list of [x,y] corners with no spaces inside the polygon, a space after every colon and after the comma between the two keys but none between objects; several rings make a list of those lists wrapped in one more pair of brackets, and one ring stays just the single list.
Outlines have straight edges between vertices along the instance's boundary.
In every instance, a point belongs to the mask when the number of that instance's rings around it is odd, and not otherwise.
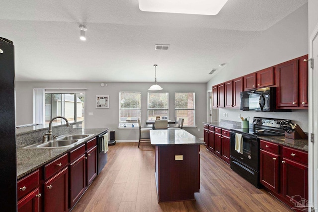
[{"label": "wide glass patio door window behind the sink faucet", "polygon": [[[84,94],[45,92],[44,114],[45,124],[56,116],[64,116],[70,123],[84,121]],[[55,119],[54,124],[65,124],[65,121]]]}]

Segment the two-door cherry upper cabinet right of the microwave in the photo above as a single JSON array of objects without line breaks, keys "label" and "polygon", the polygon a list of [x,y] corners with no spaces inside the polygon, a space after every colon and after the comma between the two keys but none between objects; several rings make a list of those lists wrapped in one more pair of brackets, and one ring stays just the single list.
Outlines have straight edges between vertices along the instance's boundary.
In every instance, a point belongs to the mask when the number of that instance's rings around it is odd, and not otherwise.
[{"label": "two-door cherry upper cabinet right of the microwave", "polygon": [[308,109],[308,55],[279,64],[275,70],[278,109]]}]

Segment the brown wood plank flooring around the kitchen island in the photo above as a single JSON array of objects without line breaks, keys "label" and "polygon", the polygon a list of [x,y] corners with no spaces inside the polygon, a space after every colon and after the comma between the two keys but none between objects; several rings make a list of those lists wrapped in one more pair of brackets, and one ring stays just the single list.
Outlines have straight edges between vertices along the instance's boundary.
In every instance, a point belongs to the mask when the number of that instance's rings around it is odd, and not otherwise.
[{"label": "brown wood plank flooring around the kitchen island", "polygon": [[257,189],[201,145],[196,201],[158,203],[155,147],[150,142],[109,146],[108,162],[72,212],[293,212]]}]

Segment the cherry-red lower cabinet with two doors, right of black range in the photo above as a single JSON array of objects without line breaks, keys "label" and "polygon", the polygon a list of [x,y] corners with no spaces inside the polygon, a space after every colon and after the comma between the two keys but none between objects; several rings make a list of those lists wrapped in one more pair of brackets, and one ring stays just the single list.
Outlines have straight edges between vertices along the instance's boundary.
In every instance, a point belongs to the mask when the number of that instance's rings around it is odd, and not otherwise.
[{"label": "cherry-red lower cabinet with two doors, right of black range", "polygon": [[261,140],[260,183],[291,207],[308,200],[308,153]]}]

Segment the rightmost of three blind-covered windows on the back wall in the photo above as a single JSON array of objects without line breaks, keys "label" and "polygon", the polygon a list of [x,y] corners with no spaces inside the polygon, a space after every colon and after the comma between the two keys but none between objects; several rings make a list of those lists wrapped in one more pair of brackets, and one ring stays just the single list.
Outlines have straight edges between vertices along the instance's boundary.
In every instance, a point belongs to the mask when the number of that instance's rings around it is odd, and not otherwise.
[{"label": "rightmost of three blind-covered windows on the back wall", "polygon": [[195,93],[175,92],[174,109],[176,120],[183,118],[183,126],[195,126]]}]

